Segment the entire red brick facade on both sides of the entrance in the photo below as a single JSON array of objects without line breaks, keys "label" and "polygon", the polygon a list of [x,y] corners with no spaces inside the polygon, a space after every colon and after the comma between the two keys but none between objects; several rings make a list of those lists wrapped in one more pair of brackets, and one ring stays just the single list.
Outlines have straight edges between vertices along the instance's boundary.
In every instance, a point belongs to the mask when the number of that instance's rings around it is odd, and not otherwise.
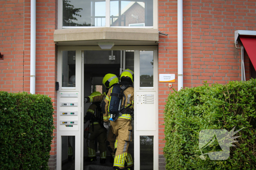
[{"label": "entire red brick facade on both sides of the entrance", "polygon": [[[36,94],[49,95],[56,118],[57,0],[37,0]],[[158,0],[159,74],[176,74],[177,90],[177,0]],[[183,0],[184,87],[207,83],[226,84],[241,80],[240,49],[234,45],[234,31],[256,31],[256,0]],[[239,47],[241,42],[239,42]],[[0,90],[29,92],[30,88],[30,0],[0,0]],[[245,51],[246,80],[250,60]],[[165,169],[163,111],[170,88],[159,83],[159,169]],[[56,127],[56,120],[55,127]],[[56,137],[56,130],[54,130]],[[50,169],[56,169],[56,138],[53,139]]]}]

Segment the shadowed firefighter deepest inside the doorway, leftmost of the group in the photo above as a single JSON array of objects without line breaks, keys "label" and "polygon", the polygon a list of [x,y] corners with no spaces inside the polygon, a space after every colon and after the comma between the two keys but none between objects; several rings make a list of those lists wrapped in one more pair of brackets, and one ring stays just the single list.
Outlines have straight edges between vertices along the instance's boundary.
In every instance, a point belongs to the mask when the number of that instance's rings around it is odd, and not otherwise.
[{"label": "shadowed firefighter deepest inside the doorway, leftmost of the group", "polygon": [[[91,100],[93,97],[101,96],[100,92],[93,92],[88,96]],[[91,104],[89,109],[84,116],[84,123],[90,121],[89,135],[87,138],[87,149],[88,149],[88,158],[85,161],[96,161],[96,152],[95,152],[95,139],[98,141],[99,152],[100,152],[100,163],[106,162],[106,138],[107,133],[106,129],[103,126],[103,114],[101,110],[101,102],[94,102]]]}]

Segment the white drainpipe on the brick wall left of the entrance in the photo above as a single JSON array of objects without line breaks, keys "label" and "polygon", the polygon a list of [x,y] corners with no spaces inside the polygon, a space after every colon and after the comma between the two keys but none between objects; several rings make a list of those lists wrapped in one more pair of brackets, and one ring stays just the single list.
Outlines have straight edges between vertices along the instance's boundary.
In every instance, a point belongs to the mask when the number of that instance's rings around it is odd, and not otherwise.
[{"label": "white drainpipe on the brick wall left of the entrance", "polygon": [[31,0],[30,9],[30,93],[35,94],[35,13],[36,0]]}]

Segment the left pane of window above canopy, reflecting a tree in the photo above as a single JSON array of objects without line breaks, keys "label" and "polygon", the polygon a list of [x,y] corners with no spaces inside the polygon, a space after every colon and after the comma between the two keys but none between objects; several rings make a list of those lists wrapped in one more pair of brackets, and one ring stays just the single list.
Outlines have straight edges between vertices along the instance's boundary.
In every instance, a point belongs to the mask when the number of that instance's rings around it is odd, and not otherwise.
[{"label": "left pane of window above canopy, reflecting a tree", "polygon": [[105,25],[105,0],[63,0],[63,26]]}]

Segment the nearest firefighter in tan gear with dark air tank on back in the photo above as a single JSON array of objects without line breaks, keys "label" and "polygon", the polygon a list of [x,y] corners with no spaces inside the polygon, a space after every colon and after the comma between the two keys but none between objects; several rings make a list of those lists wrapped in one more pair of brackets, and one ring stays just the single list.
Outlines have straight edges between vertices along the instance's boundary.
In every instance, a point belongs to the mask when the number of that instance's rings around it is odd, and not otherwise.
[{"label": "nearest firefighter in tan gear with dark air tank on back", "polygon": [[[110,126],[116,135],[116,153],[113,165],[116,169],[133,166],[131,154],[128,153],[129,142],[132,141],[133,72],[128,69],[124,70],[120,76],[120,80],[121,82],[111,87],[106,95],[104,100],[106,103],[106,113],[103,115],[104,117],[110,115],[110,120],[113,119],[113,121],[110,121]],[[104,119],[104,124],[108,122],[108,119]]]}]

